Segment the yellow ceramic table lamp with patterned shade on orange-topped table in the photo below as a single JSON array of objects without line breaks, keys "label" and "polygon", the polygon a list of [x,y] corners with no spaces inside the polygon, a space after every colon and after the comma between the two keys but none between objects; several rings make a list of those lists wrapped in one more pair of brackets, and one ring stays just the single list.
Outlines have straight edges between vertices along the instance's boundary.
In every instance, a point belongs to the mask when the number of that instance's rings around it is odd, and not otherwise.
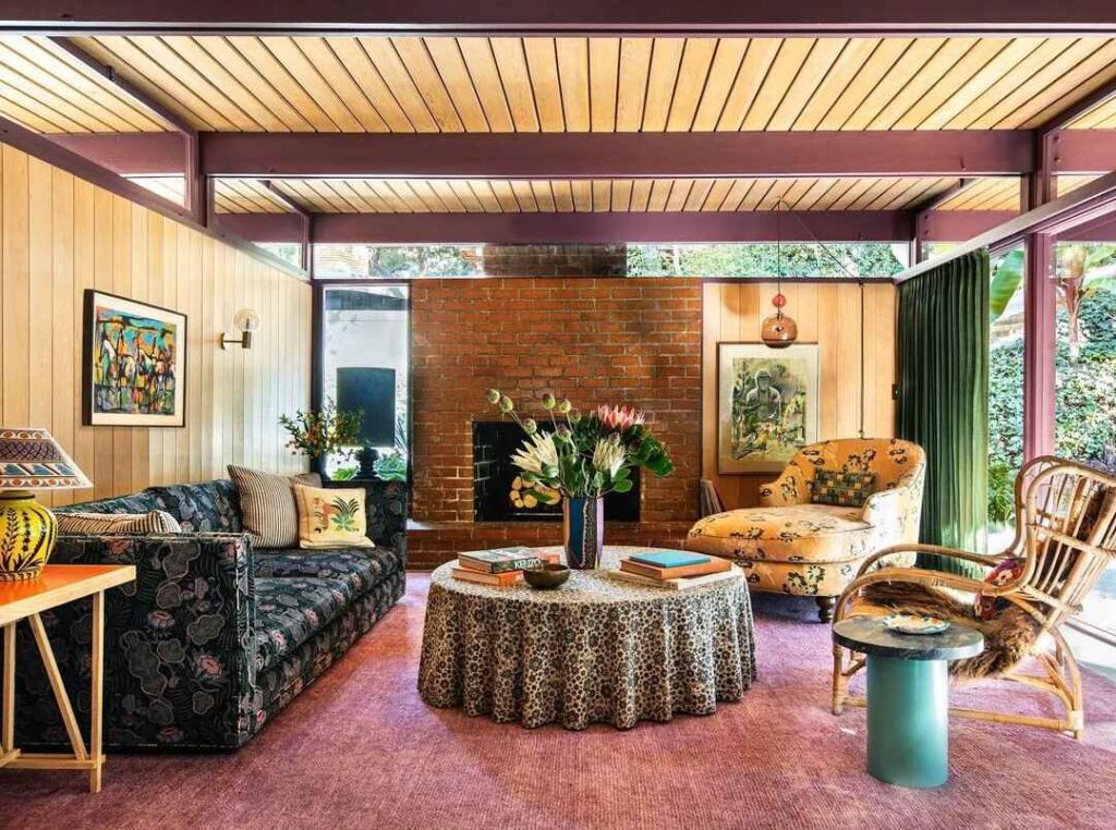
[{"label": "yellow ceramic table lamp with patterned shade on orange-topped table", "polygon": [[92,486],[46,430],[0,427],[0,581],[33,579],[55,549],[58,522],[30,491]]}]

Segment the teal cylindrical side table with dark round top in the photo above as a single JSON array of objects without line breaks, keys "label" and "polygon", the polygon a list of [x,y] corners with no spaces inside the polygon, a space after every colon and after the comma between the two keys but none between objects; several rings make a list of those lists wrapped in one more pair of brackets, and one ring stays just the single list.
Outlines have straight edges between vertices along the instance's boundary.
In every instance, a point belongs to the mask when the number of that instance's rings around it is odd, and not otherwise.
[{"label": "teal cylindrical side table with dark round top", "polygon": [[888,630],[857,617],[834,626],[834,643],[868,664],[868,772],[899,786],[940,786],[950,776],[949,663],[984,650],[984,635],[954,622],[942,634]]}]

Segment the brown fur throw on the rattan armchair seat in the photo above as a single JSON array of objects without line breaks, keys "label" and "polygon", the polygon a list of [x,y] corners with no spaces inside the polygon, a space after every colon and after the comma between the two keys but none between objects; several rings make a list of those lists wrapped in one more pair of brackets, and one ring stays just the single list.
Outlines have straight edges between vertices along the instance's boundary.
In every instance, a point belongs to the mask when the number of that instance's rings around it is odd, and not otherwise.
[{"label": "brown fur throw on the rattan armchair seat", "polygon": [[954,599],[945,591],[904,582],[874,582],[853,600],[849,616],[883,614],[927,614],[975,628],[984,635],[984,650],[975,657],[954,660],[950,674],[969,679],[997,677],[1010,672],[1030,653],[1039,624],[1018,606],[1010,606],[994,619],[978,619],[972,602]]}]

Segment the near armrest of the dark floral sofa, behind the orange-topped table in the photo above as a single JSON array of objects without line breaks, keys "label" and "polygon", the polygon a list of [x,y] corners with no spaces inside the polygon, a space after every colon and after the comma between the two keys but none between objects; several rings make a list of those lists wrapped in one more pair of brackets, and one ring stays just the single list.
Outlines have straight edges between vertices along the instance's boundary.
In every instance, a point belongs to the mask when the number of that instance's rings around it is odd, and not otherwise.
[{"label": "near armrest of the dark floral sofa, behind the orange-topped table", "polygon": [[[106,593],[109,744],[238,745],[256,683],[252,547],[246,534],[59,537],[51,562],[136,568],[134,582]],[[62,674],[73,687],[85,688],[88,644],[75,647],[68,633],[88,629],[88,601],[51,614],[48,629],[67,633],[56,644]],[[20,660],[27,673],[17,718],[26,743],[65,741],[49,687],[31,670],[38,662],[28,657]]]}]

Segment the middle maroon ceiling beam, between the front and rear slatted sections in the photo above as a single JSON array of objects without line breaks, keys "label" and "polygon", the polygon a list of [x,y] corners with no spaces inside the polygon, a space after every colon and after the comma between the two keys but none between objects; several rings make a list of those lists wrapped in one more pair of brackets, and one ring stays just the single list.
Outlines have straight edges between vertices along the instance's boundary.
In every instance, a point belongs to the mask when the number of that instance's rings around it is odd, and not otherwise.
[{"label": "middle maroon ceiling beam, between the front and rear slatted sections", "polygon": [[206,175],[461,178],[1010,175],[1029,131],[202,134]]}]

